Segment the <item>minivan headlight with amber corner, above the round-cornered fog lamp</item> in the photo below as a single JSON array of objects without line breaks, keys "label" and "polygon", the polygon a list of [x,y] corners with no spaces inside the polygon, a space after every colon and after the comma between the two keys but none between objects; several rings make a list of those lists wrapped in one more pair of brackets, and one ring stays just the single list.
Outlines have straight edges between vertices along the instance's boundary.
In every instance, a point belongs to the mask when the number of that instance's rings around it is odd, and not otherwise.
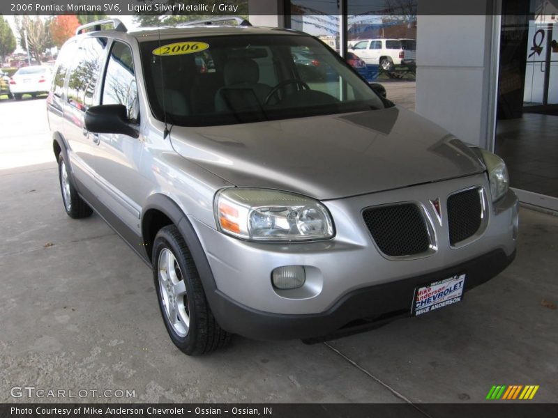
[{"label": "minivan headlight with amber corner, above the round-cornered fog lamp", "polygon": [[221,231],[246,240],[305,241],[333,237],[333,222],[322,203],[271,189],[223,189],[215,212]]}]

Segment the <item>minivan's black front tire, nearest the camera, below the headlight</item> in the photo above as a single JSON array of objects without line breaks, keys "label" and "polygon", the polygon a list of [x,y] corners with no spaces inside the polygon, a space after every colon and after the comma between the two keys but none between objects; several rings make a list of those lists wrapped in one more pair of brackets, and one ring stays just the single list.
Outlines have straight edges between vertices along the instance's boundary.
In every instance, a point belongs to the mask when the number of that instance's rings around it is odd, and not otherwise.
[{"label": "minivan's black front tire, nearest the camera, below the headlight", "polygon": [[[186,328],[186,335],[181,336],[175,327],[180,326],[181,320],[172,325],[165,307],[162,287],[164,281],[160,281],[159,274],[167,274],[167,268],[160,258],[164,258],[170,251],[174,256],[174,269],[176,277],[184,281],[186,285],[186,295],[181,295],[182,303],[189,319],[189,326]],[[202,282],[199,279],[195,263],[186,242],[182,238],[179,229],[174,225],[165,226],[160,229],[153,242],[153,281],[157,291],[157,299],[163,322],[167,328],[170,339],[176,347],[187,355],[202,355],[209,353],[217,348],[227,346],[231,340],[231,334],[223,330],[217,320],[213,317],[209,303],[207,302]],[[176,270],[176,268],[179,268]],[[163,270],[161,270],[163,269]],[[167,276],[168,279],[169,276]],[[170,279],[168,279],[170,280]],[[166,286],[165,286],[166,287]],[[172,287],[172,286],[171,286]],[[166,303],[169,303],[167,291]],[[173,293],[176,295],[176,293]],[[175,298],[175,302],[179,297]],[[178,302],[176,302],[178,303]],[[180,318],[180,316],[178,316]]]}]

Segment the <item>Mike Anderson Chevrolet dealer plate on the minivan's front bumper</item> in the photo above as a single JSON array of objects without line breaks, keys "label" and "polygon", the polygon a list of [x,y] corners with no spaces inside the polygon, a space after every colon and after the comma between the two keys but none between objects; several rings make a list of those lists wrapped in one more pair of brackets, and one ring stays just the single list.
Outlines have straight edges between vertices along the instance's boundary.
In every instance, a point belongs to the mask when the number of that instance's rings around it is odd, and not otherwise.
[{"label": "Mike Anderson Chevrolet dealer plate on the minivan's front bumper", "polygon": [[411,313],[418,316],[460,302],[463,297],[463,286],[465,286],[465,274],[416,288]]}]

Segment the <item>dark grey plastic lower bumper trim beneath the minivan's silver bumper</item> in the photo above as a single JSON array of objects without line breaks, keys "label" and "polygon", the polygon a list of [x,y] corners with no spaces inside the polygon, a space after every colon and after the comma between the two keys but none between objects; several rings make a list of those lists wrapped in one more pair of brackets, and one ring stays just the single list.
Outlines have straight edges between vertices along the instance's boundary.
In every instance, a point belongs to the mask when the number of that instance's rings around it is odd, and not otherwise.
[{"label": "dark grey plastic lower bumper trim beneath the minivan's silver bumper", "polygon": [[211,306],[223,329],[251,339],[312,339],[368,330],[387,320],[411,315],[415,288],[455,274],[467,275],[465,292],[502,272],[515,258],[503,250],[410,279],[357,289],[320,314],[282,315],[257,311],[234,302],[219,291]]}]

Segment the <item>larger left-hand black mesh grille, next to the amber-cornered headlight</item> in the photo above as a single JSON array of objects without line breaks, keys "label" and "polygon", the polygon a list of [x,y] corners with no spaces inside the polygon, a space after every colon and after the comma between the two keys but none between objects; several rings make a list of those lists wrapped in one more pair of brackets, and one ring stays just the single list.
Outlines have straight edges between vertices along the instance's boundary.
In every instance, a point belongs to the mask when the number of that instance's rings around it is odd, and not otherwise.
[{"label": "larger left-hand black mesh grille, next to the amber-cornered headlight", "polygon": [[421,254],[430,247],[423,211],[414,203],[368,208],[363,217],[376,245],[386,256]]}]

